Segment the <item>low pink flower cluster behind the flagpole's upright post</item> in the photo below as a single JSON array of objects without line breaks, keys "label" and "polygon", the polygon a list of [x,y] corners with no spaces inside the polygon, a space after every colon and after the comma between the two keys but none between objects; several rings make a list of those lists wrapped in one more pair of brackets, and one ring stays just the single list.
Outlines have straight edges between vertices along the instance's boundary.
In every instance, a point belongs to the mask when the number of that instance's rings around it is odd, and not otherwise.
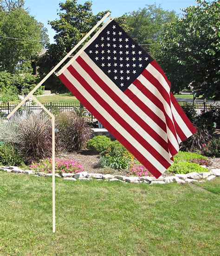
[{"label": "low pink flower cluster behind the flagpole's upright post", "polygon": [[[44,159],[30,165],[34,171],[52,173],[52,159]],[[78,173],[84,170],[83,165],[72,159],[56,159],[55,171],[57,173]]]}]

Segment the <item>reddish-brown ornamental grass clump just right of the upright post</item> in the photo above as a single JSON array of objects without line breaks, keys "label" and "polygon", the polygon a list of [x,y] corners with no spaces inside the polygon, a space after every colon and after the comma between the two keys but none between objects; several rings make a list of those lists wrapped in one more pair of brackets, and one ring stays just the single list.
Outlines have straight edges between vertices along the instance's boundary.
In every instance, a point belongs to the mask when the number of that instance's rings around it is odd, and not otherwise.
[{"label": "reddish-brown ornamental grass clump just right of the upright post", "polygon": [[67,151],[81,150],[91,137],[88,119],[72,112],[58,115],[57,128],[61,146]]}]

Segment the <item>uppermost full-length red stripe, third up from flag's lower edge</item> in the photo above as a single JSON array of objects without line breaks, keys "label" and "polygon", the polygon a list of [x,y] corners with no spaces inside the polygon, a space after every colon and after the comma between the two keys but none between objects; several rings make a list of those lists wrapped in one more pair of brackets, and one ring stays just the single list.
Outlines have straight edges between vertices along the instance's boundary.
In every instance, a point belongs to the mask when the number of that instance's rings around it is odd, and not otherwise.
[{"label": "uppermost full-length red stripe, third up from flag's lower edge", "polygon": [[[133,109],[129,107],[128,104],[124,103],[124,101],[111,89],[108,85],[94,72],[94,70],[79,56],[76,61],[78,64],[83,67],[83,69],[90,75],[91,79],[97,83],[97,85],[104,90],[106,94],[112,98],[116,104],[122,108],[136,123],[138,123],[155,141],[157,141],[162,148],[164,148],[168,152],[168,143],[158,135],[153,128],[151,128],[142,118],[137,115]],[[92,94],[93,95],[93,94]],[[154,118],[155,114],[147,114],[146,110],[144,111],[146,115],[148,115],[151,119]],[[160,126],[160,125],[159,125]]]}]

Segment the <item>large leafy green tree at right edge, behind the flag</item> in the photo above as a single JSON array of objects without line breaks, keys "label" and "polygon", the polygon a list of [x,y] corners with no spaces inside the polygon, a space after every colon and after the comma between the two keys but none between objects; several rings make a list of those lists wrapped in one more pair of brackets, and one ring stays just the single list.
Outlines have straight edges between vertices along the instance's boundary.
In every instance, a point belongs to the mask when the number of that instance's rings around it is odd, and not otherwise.
[{"label": "large leafy green tree at right edge, behind the flag", "polygon": [[220,2],[197,3],[164,28],[164,43],[158,56],[173,91],[179,92],[190,84],[197,96],[220,99]]}]

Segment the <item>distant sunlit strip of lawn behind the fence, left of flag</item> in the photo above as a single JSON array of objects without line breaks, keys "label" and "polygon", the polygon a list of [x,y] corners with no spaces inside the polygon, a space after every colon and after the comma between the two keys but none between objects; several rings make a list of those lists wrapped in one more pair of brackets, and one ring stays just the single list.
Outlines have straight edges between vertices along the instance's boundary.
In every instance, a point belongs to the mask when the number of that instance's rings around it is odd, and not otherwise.
[{"label": "distant sunlit strip of lawn behind the fence, left of flag", "polygon": [[79,103],[78,99],[75,96],[66,94],[40,96],[37,97],[37,99],[41,103]]}]

